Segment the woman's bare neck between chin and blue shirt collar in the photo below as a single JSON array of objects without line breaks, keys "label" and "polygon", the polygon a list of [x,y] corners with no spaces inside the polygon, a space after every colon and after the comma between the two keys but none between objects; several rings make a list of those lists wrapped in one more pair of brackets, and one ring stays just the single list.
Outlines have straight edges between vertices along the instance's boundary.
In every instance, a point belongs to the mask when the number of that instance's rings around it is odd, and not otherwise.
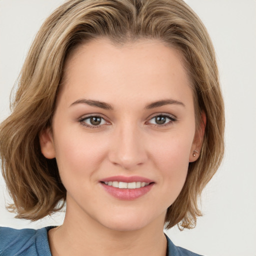
[{"label": "woman's bare neck between chin and blue shirt collar", "polygon": [[163,220],[164,213],[147,226],[135,230],[114,230],[88,215],[72,216],[67,208],[63,224],[49,230],[51,254],[165,256],[167,242],[163,234]]}]

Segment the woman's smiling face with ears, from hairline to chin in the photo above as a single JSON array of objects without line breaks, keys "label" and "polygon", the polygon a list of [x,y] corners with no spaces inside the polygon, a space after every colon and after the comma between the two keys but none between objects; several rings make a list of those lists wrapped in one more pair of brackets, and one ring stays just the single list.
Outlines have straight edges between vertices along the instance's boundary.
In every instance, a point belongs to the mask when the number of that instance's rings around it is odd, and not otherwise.
[{"label": "woman's smiling face with ears, from hairline to chin", "polygon": [[56,157],[66,218],[163,225],[201,143],[180,53],[156,40],[94,40],[69,56],[61,86],[40,144]]}]

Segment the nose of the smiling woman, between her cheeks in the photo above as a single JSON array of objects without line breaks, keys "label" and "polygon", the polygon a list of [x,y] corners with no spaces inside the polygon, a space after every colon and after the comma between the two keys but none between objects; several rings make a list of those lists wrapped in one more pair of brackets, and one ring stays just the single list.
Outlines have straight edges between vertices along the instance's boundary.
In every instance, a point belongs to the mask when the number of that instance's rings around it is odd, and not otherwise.
[{"label": "nose of the smiling woman, between her cheeks", "polygon": [[145,163],[147,153],[141,133],[135,125],[124,124],[116,128],[110,142],[109,160],[126,170]]}]

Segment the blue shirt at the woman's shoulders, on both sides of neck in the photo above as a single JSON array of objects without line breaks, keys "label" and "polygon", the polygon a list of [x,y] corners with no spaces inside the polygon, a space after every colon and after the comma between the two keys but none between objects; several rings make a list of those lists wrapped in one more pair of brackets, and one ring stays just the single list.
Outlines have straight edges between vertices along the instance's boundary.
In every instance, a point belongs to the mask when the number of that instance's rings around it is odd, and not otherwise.
[{"label": "blue shirt at the woman's shoulders, on both sides of neck", "polygon": [[[47,232],[53,226],[40,229],[0,227],[0,256],[51,256]],[[201,256],[175,246],[166,236],[168,256]]]}]

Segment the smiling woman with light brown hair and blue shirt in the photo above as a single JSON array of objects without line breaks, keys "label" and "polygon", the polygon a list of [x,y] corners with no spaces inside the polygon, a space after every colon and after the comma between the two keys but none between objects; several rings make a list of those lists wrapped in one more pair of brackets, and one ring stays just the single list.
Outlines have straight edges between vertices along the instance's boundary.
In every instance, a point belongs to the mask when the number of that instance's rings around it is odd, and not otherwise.
[{"label": "smiling woman with light brown hair and blue shirt", "polygon": [[0,126],[17,217],[66,202],[64,222],[0,228],[3,255],[197,255],[192,228],[223,154],[214,50],[181,0],[69,0],[40,28]]}]

